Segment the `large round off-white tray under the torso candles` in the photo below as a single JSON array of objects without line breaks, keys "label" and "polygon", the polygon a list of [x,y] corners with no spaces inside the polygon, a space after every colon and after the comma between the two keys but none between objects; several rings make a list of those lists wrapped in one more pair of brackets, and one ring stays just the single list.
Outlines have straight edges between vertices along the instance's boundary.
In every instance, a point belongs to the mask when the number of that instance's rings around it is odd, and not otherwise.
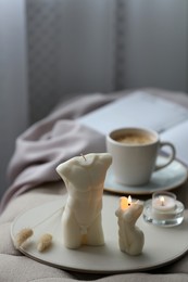
[{"label": "large round off-white tray under the torso candles", "polygon": [[[60,200],[27,210],[14,220],[11,227],[13,240],[21,229],[33,228],[45,218],[53,215],[48,221],[34,229],[34,236],[28,244],[20,248],[23,254],[42,264],[66,270],[88,273],[120,273],[158,268],[178,259],[188,251],[188,218],[185,218],[178,227],[159,228],[145,222],[141,216],[137,226],[145,233],[142,254],[129,256],[122,253],[118,248],[118,226],[115,216],[120,197],[115,195],[103,196],[102,225],[105,245],[67,249],[63,245],[60,225],[61,213],[54,215],[54,211],[59,210],[65,201],[65,196],[60,196]],[[36,241],[46,232],[52,233],[53,244],[47,252],[39,253],[36,248]]]}]

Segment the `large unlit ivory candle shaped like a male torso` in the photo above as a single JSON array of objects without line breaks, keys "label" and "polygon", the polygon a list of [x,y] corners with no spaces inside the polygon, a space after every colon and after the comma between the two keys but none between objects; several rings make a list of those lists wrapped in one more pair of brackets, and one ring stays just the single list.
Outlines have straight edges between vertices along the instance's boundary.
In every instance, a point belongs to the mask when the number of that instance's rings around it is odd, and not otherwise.
[{"label": "large unlit ivory candle shaped like a male torso", "polygon": [[101,225],[105,174],[112,163],[108,153],[76,156],[57,167],[68,196],[62,215],[64,245],[104,244]]}]

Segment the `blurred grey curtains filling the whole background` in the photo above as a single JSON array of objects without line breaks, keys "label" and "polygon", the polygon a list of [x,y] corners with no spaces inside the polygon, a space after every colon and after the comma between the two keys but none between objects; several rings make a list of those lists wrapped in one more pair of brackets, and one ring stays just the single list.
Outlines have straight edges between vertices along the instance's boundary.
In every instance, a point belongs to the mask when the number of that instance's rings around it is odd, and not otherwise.
[{"label": "blurred grey curtains filling the whole background", "polygon": [[15,138],[60,99],[187,77],[187,0],[1,0],[0,196]]}]

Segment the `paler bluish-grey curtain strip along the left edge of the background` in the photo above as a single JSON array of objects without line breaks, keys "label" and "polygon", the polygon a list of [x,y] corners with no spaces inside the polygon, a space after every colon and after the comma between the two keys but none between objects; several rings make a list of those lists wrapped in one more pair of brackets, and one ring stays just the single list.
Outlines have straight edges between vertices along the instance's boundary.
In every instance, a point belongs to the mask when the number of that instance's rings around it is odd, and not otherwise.
[{"label": "paler bluish-grey curtain strip along the left edge of the background", "polygon": [[23,1],[0,1],[0,195],[14,141],[28,125],[25,9]]}]

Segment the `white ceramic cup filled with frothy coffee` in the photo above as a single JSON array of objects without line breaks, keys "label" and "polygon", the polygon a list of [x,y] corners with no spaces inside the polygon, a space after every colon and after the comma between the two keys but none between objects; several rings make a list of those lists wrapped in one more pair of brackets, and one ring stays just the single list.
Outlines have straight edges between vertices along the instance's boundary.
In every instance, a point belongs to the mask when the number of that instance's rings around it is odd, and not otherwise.
[{"label": "white ceramic cup filled with frothy coffee", "polygon": [[[168,146],[170,155],[163,164],[156,164],[162,146]],[[159,133],[146,128],[122,128],[106,136],[106,151],[112,155],[115,181],[126,185],[143,185],[153,171],[170,165],[175,158],[175,148],[161,142]]]}]

